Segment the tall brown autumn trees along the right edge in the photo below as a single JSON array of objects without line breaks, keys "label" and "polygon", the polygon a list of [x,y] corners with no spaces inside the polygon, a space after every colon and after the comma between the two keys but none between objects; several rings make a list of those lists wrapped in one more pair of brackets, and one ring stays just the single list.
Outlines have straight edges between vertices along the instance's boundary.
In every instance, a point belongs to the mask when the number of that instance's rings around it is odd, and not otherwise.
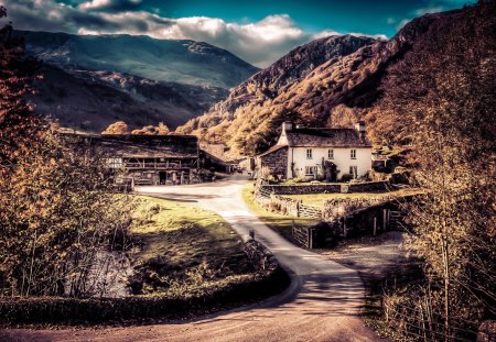
[{"label": "tall brown autumn trees along the right edge", "polygon": [[409,218],[427,282],[400,310],[427,320],[432,340],[496,317],[495,3],[434,23],[389,70],[375,115],[391,118],[371,118],[387,139],[412,142],[413,180],[428,189]]}]

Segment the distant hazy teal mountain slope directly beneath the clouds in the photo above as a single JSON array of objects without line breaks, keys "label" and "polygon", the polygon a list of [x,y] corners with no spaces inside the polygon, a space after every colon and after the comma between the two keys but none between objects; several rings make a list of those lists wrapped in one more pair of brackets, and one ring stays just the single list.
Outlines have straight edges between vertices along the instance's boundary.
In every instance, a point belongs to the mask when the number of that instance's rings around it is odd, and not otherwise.
[{"label": "distant hazy teal mountain slope directly beneath the clouds", "polygon": [[74,35],[18,31],[28,53],[64,68],[108,70],[194,86],[229,89],[259,69],[203,42],[134,35]]}]

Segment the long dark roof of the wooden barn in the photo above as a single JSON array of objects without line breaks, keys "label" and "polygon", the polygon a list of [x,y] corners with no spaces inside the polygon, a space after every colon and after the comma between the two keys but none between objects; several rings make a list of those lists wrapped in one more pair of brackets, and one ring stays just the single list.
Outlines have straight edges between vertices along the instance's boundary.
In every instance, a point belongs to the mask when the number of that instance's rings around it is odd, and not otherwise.
[{"label": "long dark roof of the wooden barn", "polygon": [[198,157],[198,139],[194,135],[63,134],[73,143],[116,157]]}]

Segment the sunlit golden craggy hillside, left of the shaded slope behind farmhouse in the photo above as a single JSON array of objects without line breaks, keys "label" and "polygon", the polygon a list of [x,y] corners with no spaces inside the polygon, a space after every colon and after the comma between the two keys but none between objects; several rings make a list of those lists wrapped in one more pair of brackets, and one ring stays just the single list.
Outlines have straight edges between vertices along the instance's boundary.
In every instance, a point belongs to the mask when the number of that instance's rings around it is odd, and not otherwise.
[{"label": "sunlit golden craggy hillside, left of the shaded slope behind farmhouse", "polygon": [[[296,119],[296,112],[304,115],[305,106],[324,102],[320,96],[326,88],[324,84],[332,84],[331,76],[335,84],[349,77],[347,71],[357,64],[343,64],[347,63],[346,57],[359,52],[360,58],[367,59],[371,52],[366,47],[384,44],[365,36],[335,35],[299,46],[231,89],[227,99],[177,131],[225,142],[236,155],[267,148],[274,142],[283,120]],[[327,75],[330,70],[335,73]]]}]

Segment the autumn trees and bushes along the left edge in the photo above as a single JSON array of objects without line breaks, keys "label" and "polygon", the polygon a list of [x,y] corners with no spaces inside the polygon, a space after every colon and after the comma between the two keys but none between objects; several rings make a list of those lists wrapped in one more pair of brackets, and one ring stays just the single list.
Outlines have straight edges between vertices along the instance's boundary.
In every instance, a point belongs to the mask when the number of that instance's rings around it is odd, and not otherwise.
[{"label": "autumn trees and bushes along the left edge", "polygon": [[87,296],[96,254],[126,235],[128,201],[25,101],[39,63],[11,30],[0,30],[0,297],[61,295],[68,279]]}]

